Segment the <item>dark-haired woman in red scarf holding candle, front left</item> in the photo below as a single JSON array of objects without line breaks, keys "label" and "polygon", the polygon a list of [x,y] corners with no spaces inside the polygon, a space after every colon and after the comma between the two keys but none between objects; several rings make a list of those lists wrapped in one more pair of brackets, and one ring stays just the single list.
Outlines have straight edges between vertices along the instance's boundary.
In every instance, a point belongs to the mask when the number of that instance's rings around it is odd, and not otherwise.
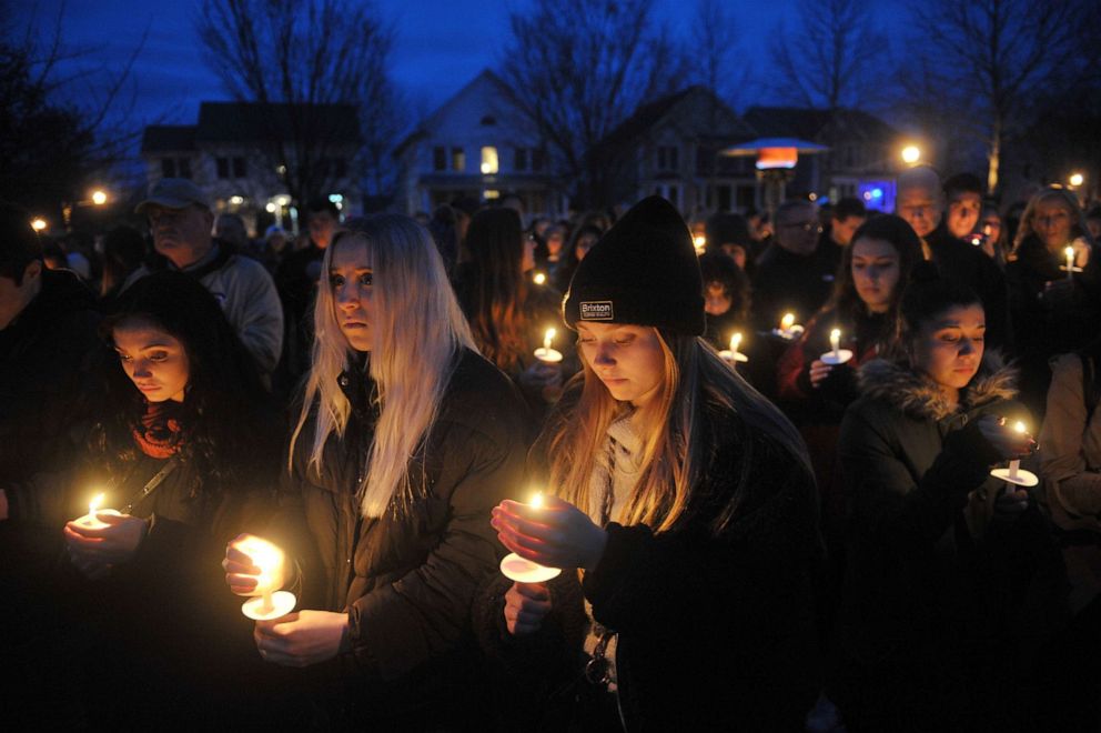
[{"label": "dark-haired woman in red scarf holding candle, front left", "polygon": [[120,366],[67,488],[74,506],[103,492],[121,513],[64,528],[71,564],[91,581],[74,591],[91,626],[80,635],[95,640],[82,666],[90,700],[132,691],[112,705],[115,724],[243,722],[256,702],[250,675],[262,670],[240,643],[240,609],[220,602],[219,561],[266,510],[277,421],[252,359],[194,279],[139,280],[101,331]]}]

